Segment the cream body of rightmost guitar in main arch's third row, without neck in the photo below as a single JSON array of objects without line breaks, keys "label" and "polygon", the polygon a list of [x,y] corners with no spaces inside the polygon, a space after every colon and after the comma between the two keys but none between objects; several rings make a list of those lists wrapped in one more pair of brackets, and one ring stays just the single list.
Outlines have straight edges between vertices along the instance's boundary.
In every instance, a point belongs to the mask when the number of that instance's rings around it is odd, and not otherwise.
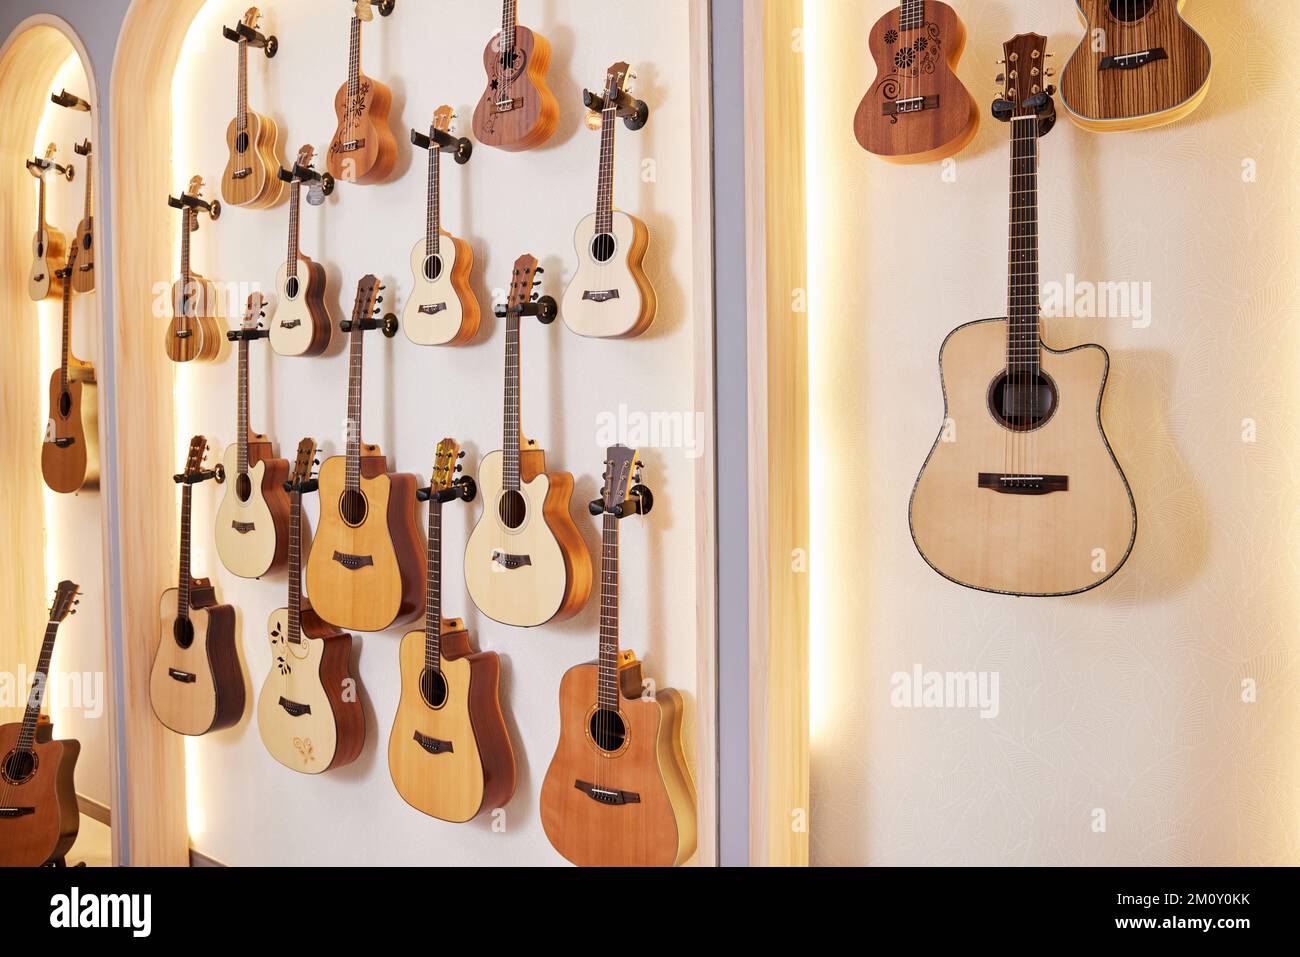
[{"label": "cream body of rightmost guitar in main arch's third row, without neck", "polygon": [[[504,462],[495,451],[478,467],[484,514],[465,544],[469,597],[493,620],[520,628],[572,618],[592,594],[592,557],[569,515],[573,476],[547,472],[541,450],[521,451],[525,518],[508,528],[500,519]],[[498,554],[515,567],[495,560]]]}]

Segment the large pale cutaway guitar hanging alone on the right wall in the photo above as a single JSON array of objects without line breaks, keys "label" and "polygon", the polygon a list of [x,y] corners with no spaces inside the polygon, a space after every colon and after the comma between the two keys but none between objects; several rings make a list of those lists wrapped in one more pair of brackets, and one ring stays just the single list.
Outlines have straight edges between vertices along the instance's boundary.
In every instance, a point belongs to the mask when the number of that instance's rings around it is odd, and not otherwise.
[{"label": "large pale cutaway guitar hanging alone on the right wall", "polygon": [[[1040,64],[1045,47],[1015,36],[1006,64]],[[1039,139],[1056,118],[1054,90],[1015,73],[993,103],[1011,129],[1008,317],[959,326],[940,350],[944,428],[913,490],[911,534],[959,585],[1075,594],[1124,563],[1138,515],[1101,424],[1106,351],[1040,338]]]}]

